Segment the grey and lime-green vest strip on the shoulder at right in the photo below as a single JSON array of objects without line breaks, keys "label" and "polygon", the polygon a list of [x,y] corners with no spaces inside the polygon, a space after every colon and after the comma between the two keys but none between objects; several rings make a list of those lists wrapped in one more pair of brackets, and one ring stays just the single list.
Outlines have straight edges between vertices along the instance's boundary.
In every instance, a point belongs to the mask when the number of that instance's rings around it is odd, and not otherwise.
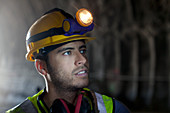
[{"label": "grey and lime-green vest strip on the shoulder at right", "polygon": [[113,113],[113,101],[111,97],[96,93],[99,113]]}]

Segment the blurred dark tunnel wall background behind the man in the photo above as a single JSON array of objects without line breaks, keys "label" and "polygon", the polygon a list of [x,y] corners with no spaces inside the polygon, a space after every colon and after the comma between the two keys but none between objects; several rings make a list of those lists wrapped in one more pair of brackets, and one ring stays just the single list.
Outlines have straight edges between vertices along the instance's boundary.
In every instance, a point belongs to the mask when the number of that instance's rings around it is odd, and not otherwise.
[{"label": "blurred dark tunnel wall background behind the man", "polygon": [[0,113],[44,88],[25,60],[25,36],[52,8],[89,9],[97,37],[88,44],[90,88],[132,113],[170,112],[169,0],[0,0]]}]

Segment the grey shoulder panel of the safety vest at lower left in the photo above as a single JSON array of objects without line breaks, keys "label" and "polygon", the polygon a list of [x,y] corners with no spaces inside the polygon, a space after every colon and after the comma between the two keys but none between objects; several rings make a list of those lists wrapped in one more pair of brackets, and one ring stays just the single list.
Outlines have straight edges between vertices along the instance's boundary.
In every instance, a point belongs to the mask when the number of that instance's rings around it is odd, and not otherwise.
[{"label": "grey shoulder panel of the safety vest at lower left", "polygon": [[6,113],[37,113],[37,110],[32,102],[29,99],[26,99],[24,102],[6,111]]}]

